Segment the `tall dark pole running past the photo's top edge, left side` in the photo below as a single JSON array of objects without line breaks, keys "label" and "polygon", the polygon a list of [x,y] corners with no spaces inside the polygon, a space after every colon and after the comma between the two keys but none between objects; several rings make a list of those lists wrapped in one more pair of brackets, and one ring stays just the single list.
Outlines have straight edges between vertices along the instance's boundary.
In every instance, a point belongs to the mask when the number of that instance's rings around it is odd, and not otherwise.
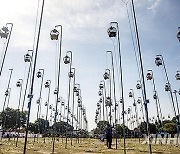
[{"label": "tall dark pole running past the photo's top edge, left side", "polygon": [[33,90],[34,90],[34,78],[35,78],[35,70],[36,70],[36,62],[37,62],[37,53],[38,53],[39,39],[40,39],[41,25],[42,25],[42,17],[43,17],[43,11],[44,11],[44,1],[45,0],[43,0],[43,2],[42,2],[42,9],[41,9],[40,23],[39,23],[39,29],[38,29],[38,35],[37,35],[36,50],[35,50],[35,55],[34,55],[34,66],[33,66],[33,71],[32,71],[30,93],[28,95],[28,98],[29,98],[29,102],[28,102],[28,114],[27,114],[27,125],[26,125],[26,133],[25,133],[25,141],[24,141],[24,151],[23,151],[23,154],[26,153],[26,146],[27,146],[27,137],[28,137],[28,130],[29,130],[31,102],[32,102]]}]

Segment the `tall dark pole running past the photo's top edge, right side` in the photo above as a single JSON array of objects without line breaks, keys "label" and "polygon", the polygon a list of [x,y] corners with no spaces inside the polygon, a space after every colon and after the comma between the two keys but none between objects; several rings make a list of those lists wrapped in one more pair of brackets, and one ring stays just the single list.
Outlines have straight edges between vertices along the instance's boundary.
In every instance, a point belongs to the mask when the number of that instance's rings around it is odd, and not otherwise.
[{"label": "tall dark pole running past the photo's top edge, right side", "polygon": [[148,100],[147,100],[147,96],[146,96],[146,86],[145,86],[145,79],[144,79],[144,70],[143,70],[143,62],[142,62],[142,55],[141,55],[141,47],[140,47],[137,21],[136,21],[134,0],[131,0],[131,2],[132,2],[132,11],[133,11],[133,18],[134,18],[137,46],[138,46],[138,55],[139,55],[139,62],[140,62],[140,69],[141,69],[142,85],[143,85],[142,92],[143,92],[143,98],[144,98],[144,108],[145,108],[145,113],[146,113],[147,134],[148,134],[148,139],[149,139],[149,153],[152,154],[152,147],[151,147],[151,140],[150,140],[150,128],[149,128],[149,115],[148,115],[148,107],[147,107]]}]

